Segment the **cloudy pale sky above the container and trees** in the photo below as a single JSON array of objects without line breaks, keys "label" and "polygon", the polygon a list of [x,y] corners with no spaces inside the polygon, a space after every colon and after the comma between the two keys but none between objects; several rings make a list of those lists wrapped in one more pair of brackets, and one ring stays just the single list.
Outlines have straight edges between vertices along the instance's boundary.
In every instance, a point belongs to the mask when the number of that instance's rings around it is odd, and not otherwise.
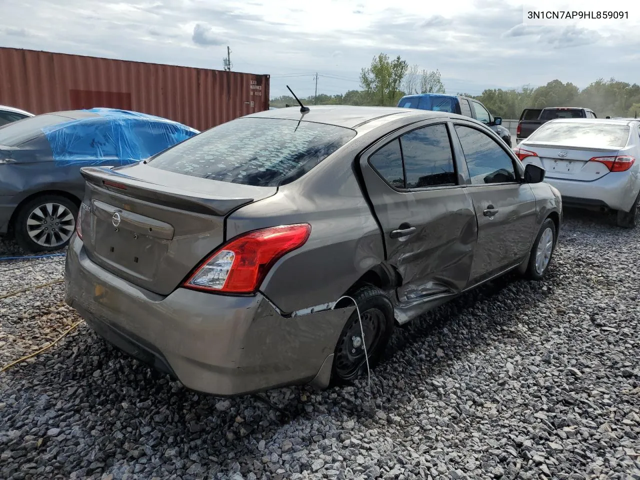
[{"label": "cloudy pale sky above the container and trees", "polygon": [[0,0],[0,46],[221,69],[230,45],[232,70],[271,74],[272,97],[311,95],[315,72],[319,93],[358,88],[380,52],[437,68],[448,93],[640,81],[636,3],[552,3],[630,18],[529,26],[511,0]]}]

